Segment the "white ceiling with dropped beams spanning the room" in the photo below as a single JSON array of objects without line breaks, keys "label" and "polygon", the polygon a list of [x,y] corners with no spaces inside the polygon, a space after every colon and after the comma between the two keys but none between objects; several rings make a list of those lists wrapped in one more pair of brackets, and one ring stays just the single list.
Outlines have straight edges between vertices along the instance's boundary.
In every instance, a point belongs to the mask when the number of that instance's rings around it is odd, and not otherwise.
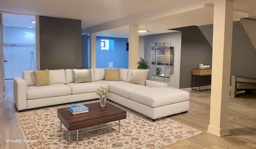
[{"label": "white ceiling with dropped beams spanning the room", "polygon": [[[82,33],[128,37],[129,25],[150,32],[140,36],[172,32],[170,28],[213,23],[214,0],[0,0],[0,12],[82,20]],[[234,20],[256,19],[256,0],[234,0]],[[19,16],[4,17],[4,24],[31,25]],[[28,20],[26,24],[26,21]]]}]

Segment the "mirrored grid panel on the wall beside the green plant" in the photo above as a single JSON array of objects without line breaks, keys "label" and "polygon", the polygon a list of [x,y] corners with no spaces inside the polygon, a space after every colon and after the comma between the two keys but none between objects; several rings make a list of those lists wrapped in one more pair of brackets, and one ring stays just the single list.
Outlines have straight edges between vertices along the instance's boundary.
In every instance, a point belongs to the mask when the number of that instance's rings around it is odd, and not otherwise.
[{"label": "mirrored grid panel on the wall beside the green plant", "polygon": [[152,79],[170,81],[173,74],[174,48],[170,42],[151,44],[151,75]]}]

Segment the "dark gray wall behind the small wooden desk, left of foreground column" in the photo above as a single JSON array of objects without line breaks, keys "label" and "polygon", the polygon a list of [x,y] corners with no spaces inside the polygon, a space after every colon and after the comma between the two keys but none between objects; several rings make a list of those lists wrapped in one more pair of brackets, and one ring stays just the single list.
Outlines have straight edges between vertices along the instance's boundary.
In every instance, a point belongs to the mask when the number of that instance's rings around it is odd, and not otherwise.
[{"label": "dark gray wall behind the small wooden desk, left of foreground column", "polygon": [[175,28],[182,32],[180,56],[180,88],[192,85],[192,69],[199,64],[212,66],[212,46],[206,40],[198,26]]}]

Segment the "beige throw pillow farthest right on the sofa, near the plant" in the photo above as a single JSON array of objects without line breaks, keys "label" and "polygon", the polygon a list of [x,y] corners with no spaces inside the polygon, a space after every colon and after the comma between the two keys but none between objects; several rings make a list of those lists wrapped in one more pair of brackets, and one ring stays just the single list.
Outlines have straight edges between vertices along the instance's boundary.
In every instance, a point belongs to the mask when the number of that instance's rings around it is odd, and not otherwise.
[{"label": "beige throw pillow farthest right on the sofa, near the plant", "polygon": [[131,77],[129,83],[145,85],[146,79],[148,77],[148,72],[149,72],[149,69],[133,70],[132,77]]}]

